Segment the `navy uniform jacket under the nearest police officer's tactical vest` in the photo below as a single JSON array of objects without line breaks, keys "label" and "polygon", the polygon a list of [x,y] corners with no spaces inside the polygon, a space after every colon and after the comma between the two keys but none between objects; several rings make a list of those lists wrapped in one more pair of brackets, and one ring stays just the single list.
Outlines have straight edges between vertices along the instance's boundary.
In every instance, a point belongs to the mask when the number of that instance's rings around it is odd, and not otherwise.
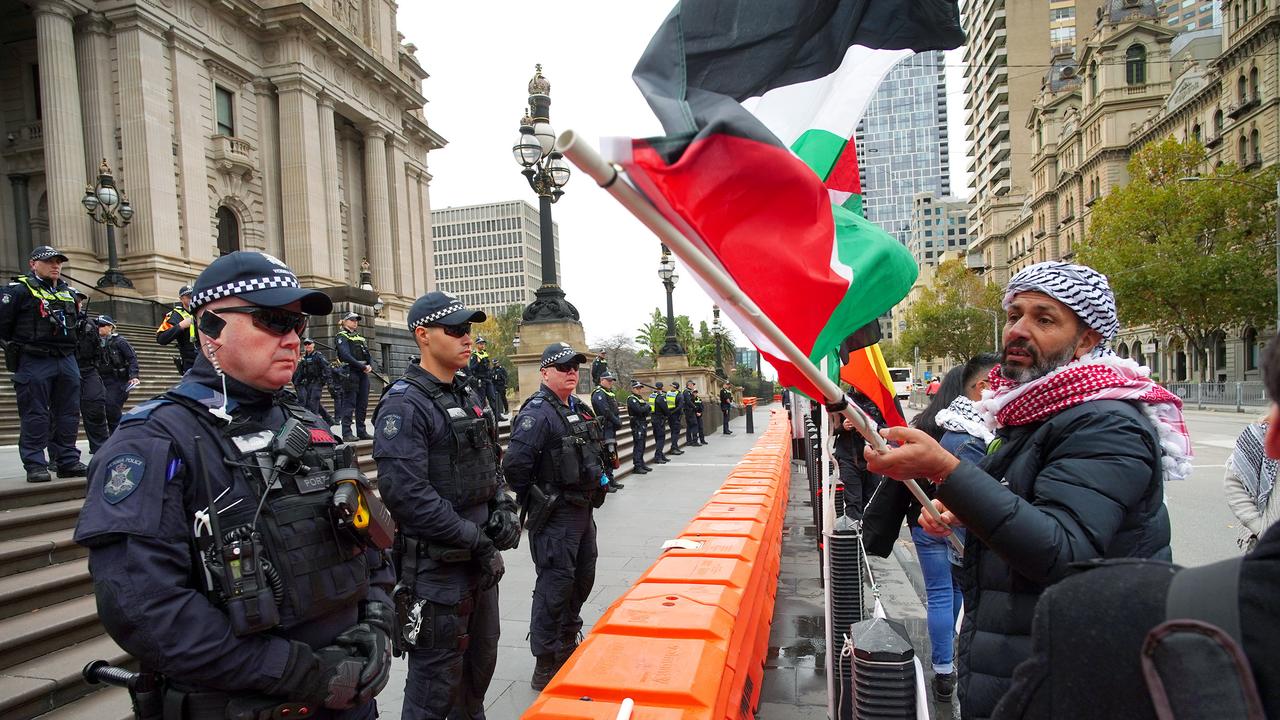
[{"label": "navy uniform jacket under the nearest police officer's tactical vest", "polygon": [[[209,360],[200,356],[170,392],[214,410],[221,407],[221,388]],[[279,428],[287,413],[293,413],[285,410],[280,395],[232,378],[227,378],[227,411],[234,420],[223,447],[233,442],[234,447],[246,443],[246,448],[253,447],[248,443],[269,443],[270,429]],[[312,447],[335,445],[320,420],[293,407],[314,420],[307,423]],[[205,569],[192,548],[193,534],[200,532],[195,514],[209,506],[198,473],[207,474],[215,498],[221,495],[215,505],[224,533],[230,525],[247,524],[259,501],[260,487],[250,487],[247,470],[224,464],[219,438],[211,437],[211,428],[219,423],[211,414],[197,419],[192,406],[164,396],[125,414],[90,464],[76,542],[90,548],[102,625],[145,669],[163,671],[187,689],[269,692],[282,673],[302,657],[301,643],[312,648],[330,644],[358,621],[361,601],[390,606],[388,591],[394,574],[380,553],[348,546],[338,566],[346,573],[329,577],[344,582],[329,589],[352,600],[326,605],[332,598],[314,587],[312,592],[303,588],[306,602],[332,609],[310,620],[284,619],[275,629],[237,637],[227,611],[204,592]],[[234,434],[237,427],[269,430],[264,441],[261,434]],[[197,434],[198,452],[192,442]],[[283,477],[280,482],[302,480]],[[289,507],[297,507],[282,506],[282,495],[276,491],[268,496],[264,515],[283,516]],[[207,528],[202,533],[207,534]]]}]

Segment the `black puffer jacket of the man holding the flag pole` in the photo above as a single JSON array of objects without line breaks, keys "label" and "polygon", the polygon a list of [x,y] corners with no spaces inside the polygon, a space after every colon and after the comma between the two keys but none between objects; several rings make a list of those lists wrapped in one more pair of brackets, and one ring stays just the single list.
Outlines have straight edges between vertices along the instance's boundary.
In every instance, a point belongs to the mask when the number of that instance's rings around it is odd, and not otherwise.
[{"label": "black puffer jacket of the man holding the flag pole", "polygon": [[1036,601],[1071,562],[1171,559],[1160,443],[1139,407],[1085,402],[997,439],[937,492],[969,529],[957,656],[966,719],[991,716],[1030,656]]}]

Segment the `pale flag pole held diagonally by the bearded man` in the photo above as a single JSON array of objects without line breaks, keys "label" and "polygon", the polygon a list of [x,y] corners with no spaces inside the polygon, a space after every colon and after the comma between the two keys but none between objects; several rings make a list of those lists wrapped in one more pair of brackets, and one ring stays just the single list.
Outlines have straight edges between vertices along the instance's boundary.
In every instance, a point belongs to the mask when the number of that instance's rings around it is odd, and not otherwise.
[{"label": "pale flag pole held diagonally by the bearded man", "polygon": [[[604,161],[600,154],[595,151],[594,147],[579,142],[577,135],[568,129],[561,133],[557,146],[566,158],[568,158],[582,172],[591,176],[591,179],[596,184],[603,187],[613,196],[614,200],[622,204],[637,220],[644,223],[646,228],[653,231],[658,238],[666,243],[666,246],[677,256],[685,265],[687,265],[694,273],[696,273],[703,281],[707,282],[712,288],[716,290],[724,300],[732,305],[737,313],[735,315],[741,318],[744,322],[749,323],[756,332],[763,334],[778,348],[782,356],[796,366],[797,370],[805,377],[806,380],[813,383],[819,392],[822,392],[823,400],[828,405],[842,404],[844,407],[841,413],[854,421],[854,429],[858,434],[863,436],[869,446],[876,448],[877,452],[884,452],[888,450],[888,443],[884,438],[879,436],[876,428],[876,421],[870,419],[856,402],[849,400],[840,386],[833,383],[831,378],[824,375],[822,370],[814,366],[813,361],[799,348],[791,338],[788,338],[764,313],[760,307],[751,300],[737,283],[733,282],[727,273],[724,273],[716,263],[712,263],[707,255],[682,232],[676,229],[671,222],[667,220],[658,211],[657,208],[640,193],[636,188],[631,187],[628,182],[618,182],[620,168]],[[937,520],[940,524],[942,516],[938,514],[937,509],[933,507],[933,502],[929,500],[920,486],[911,478],[902,480],[906,489],[911,492],[916,501],[931,518]],[[964,551],[964,546],[955,534],[947,536],[951,541],[952,547],[957,552]]]}]

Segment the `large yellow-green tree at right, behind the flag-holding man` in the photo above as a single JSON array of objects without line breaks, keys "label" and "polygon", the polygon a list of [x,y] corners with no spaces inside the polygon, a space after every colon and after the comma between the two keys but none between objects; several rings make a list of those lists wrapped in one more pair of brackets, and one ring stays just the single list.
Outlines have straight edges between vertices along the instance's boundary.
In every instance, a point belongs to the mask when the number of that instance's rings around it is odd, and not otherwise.
[{"label": "large yellow-green tree at right, behind the flag-holding man", "polygon": [[1198,142],[1167,138],[1129,159],[1129,184],[1093,208],[1079,261],[1107,275],[1121,323],[1187,338],[1193,369],[1207,372],[1217,333],[1275,316],[1277,168],[1242,173],[1226,164],[1194,177]]}]

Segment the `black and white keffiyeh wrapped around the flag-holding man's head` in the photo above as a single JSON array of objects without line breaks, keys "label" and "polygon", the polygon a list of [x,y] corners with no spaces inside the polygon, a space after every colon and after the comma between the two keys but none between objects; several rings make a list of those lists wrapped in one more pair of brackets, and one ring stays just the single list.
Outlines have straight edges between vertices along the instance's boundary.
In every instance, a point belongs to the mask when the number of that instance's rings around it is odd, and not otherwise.
[{"label": "black and white keffiyeh wrapped around the flag-holding man's head", "polygon": [[1115,338],[1120,329],[1116,296],[1107,277],[1085,265],[1070,263],[1037,263],[1024,268],[1009,281],[1004,306],[1019,292],[1043,292],[1066,305],[1085,325],[1102,336],[1102,345]]}]

